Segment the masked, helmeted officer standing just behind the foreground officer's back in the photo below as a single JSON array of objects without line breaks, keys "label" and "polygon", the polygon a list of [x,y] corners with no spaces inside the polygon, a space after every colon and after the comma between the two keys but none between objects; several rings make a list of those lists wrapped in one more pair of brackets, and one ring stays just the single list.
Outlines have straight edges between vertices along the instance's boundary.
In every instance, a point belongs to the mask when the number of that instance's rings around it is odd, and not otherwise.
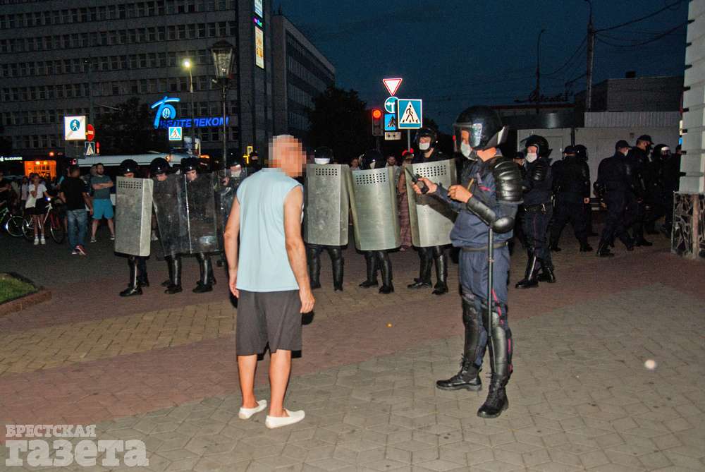
[{"label": "masked, helmeted officer standing just behind the foreground officer's back", "polygon": [[524,279],[517,282],[517,289],[539,285],[539,272],[544,282],[556,282],[548,249],[548,223],[551,222],[551,149],[543,136],[530,135],[525,142],[524,162],[524,214],[522,224],[527,237],[527,268]]}]

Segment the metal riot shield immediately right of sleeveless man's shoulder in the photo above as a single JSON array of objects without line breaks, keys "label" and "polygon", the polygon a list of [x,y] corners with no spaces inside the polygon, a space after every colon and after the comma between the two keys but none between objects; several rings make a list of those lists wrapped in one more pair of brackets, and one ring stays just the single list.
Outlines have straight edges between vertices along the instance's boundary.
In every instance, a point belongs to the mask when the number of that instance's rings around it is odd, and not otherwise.
[{"label": "metal riot shield immediately right of sleeveless man's shoulder", "polygon": [[306,166],[304,241],[309,244],[348,244],[350,167],[338,164]]}]

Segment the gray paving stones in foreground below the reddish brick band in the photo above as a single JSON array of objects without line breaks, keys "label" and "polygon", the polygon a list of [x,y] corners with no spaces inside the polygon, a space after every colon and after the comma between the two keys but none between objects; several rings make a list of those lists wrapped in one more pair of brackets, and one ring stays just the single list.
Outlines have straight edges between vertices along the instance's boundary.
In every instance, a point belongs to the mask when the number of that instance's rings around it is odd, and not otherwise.
[{"label": "gray paving stones in foreground below the reddish brick band", "polygon": [[[98,423],[98,440],[144,441],[148,467],[64,470],[703,471],[703,314],[702,298],[649,284],[511,322],[510,409],[495,420],[476,416],[486,390],[434,388],[458,368],[451,337],[293,377],[287,406],[307,417],[290,428],[238,419],[237,394],[208,397]],[[0,470],[37,470],[3,468],[7,454]]]}]

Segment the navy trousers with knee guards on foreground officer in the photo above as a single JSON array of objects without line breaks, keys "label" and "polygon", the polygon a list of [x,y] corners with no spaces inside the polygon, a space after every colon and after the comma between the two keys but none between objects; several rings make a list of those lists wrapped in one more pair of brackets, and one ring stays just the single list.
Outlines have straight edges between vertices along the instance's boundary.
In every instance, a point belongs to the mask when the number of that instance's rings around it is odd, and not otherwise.
[{"label": "navy trousers with knee guards on foreground officer", "polygon": [[[487,310],[487,249],[460,250],[460,289],[462,292],[463,323],[465,324],[465,355],[472,356],[475,367],[482,367],[486,347],[490,347],[493,374],[504,382],[512,372],[512,332],[507,318],[509,248],[506,244],[494,250],[492,270],[492,332],[488,334]],[[465,307],[474,309],[467,310]]]}]

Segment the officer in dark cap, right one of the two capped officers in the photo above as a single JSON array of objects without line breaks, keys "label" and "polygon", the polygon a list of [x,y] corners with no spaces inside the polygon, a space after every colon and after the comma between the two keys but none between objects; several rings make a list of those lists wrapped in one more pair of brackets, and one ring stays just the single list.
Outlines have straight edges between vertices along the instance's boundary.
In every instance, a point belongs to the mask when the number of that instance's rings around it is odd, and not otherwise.
[{"label": "officer in dark cap, right one of the two capped officers", "polygon": [[646,224],[646,207],[651,203],[649,195],[649,150],[651,136],[641,135],[637,138],[637,144],[627,154],[627,166],[632,171],[635,185],[632,192],[627,195],[627,214],[630,214],[632,226],[632,239],[635,246],[653,246],[653,243],[644,238],[644,224]]}]

